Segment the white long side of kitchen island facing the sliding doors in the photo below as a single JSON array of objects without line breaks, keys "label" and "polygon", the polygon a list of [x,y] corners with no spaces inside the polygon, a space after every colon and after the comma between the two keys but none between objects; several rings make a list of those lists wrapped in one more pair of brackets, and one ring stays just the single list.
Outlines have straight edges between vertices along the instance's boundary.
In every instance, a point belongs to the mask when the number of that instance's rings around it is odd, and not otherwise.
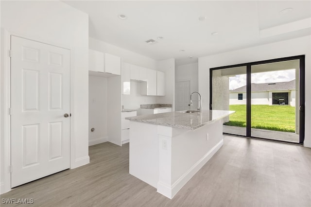
[{"label": "white long side of kitchen island facing the sliding doors", "polygon": [[[167,140],[171,139],[168,142],[170,144],[168,147],[171,149],[165,151],[159,146],[159,182],[157,189],[159,193],[172,199],[220,149],[223,145],[222,125],[222,121],[219,120],[195,130],[172,128],[172,135],[166,137]],[[170,173],[164,171],[168,167],[168,160],[171,164]],[[165,177],[166,179],[164,179]]]}]

